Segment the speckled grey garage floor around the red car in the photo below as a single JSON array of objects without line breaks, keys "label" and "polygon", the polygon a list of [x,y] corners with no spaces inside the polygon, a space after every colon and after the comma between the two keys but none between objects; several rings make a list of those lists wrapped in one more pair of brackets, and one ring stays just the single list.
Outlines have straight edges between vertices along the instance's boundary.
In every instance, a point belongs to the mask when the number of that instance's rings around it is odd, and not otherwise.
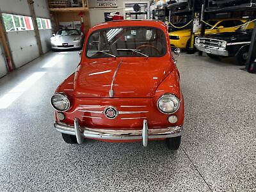
[{"label": "speckled grey garage floor around the red car", "polygon": [[163,141],[68,145],[49,99],[77,66],[50,52],[0,79],[0,191],[256,191],[256,76],[182,55],[181,148]]}]

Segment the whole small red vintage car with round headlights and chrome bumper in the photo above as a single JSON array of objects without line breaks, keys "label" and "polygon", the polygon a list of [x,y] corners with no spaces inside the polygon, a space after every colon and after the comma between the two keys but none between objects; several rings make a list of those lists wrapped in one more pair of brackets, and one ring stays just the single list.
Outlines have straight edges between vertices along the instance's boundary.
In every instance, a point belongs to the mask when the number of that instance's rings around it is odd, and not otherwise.
[{"label": "whole small red vintage car with round headlights and chrome bumper", "polygon": [[166,140],[178,149],[184,123],[179,71],[168,29],[118,20],[88,31],[76,72],[51,98],[54,127],[67,143]]}]

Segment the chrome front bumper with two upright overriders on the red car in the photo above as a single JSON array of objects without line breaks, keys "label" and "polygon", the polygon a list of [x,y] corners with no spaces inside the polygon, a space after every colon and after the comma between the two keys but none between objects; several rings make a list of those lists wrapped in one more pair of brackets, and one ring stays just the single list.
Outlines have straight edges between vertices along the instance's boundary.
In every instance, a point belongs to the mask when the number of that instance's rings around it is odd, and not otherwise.
[{"label": "chrome front bumper with two upright overriders on the red car", "polygon": [[54,122],[57,131],[76,136],[77,143],[82,144],[83,138],[99,140],[142,140],[143,146],[147,147],[148,139],[173,138],[181,135],[182,127],[167,127],[164,129],[148,129],[147,120],[143,120],[143,127],[140,130],[113,130],[113,129],[92,129],[79,127],[75,118],[74,127],[59,122]]}]

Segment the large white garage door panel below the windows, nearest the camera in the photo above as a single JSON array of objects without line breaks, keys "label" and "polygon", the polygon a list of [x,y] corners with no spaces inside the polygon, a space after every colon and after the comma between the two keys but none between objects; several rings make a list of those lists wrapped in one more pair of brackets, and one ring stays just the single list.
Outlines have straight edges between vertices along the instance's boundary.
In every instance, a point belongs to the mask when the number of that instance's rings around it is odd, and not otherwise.
[{"label": "large white garage door panel below the windows, nearest the camera", "polygon": [[12,31],[7,33],[15,67],[21,67],[38,58],[35,31]]}]

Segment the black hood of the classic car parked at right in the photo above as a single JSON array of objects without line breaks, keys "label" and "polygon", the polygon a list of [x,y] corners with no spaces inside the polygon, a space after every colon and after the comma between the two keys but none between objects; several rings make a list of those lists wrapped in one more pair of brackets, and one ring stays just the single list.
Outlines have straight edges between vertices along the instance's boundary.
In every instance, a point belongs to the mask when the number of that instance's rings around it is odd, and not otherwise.
[{"label": "black hood of the classic car parked at right", "polygon": [[250,40],[252,36],[252,30],[244,30],[244,31],[235,31],[235,32],[227,32],[227,33],[216,33],[212,35],[207,35],[205,38],[215,38],[218,40],[225,40],[227,42],[233,40]]}]

